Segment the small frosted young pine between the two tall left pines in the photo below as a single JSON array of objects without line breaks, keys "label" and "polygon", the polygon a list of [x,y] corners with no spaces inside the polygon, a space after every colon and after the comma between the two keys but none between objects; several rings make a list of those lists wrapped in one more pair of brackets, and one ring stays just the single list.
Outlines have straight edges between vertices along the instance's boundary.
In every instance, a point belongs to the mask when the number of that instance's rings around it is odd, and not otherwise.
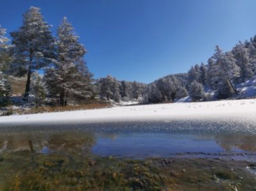
[{"label": "small frosted young pine between the two tall left pines", "polygon": [[31,80],[31,90],[29,92],[29,99],[35,103],[35,107],[40,106],[46,98],[46,88],[43,78],[34,72]]}]

